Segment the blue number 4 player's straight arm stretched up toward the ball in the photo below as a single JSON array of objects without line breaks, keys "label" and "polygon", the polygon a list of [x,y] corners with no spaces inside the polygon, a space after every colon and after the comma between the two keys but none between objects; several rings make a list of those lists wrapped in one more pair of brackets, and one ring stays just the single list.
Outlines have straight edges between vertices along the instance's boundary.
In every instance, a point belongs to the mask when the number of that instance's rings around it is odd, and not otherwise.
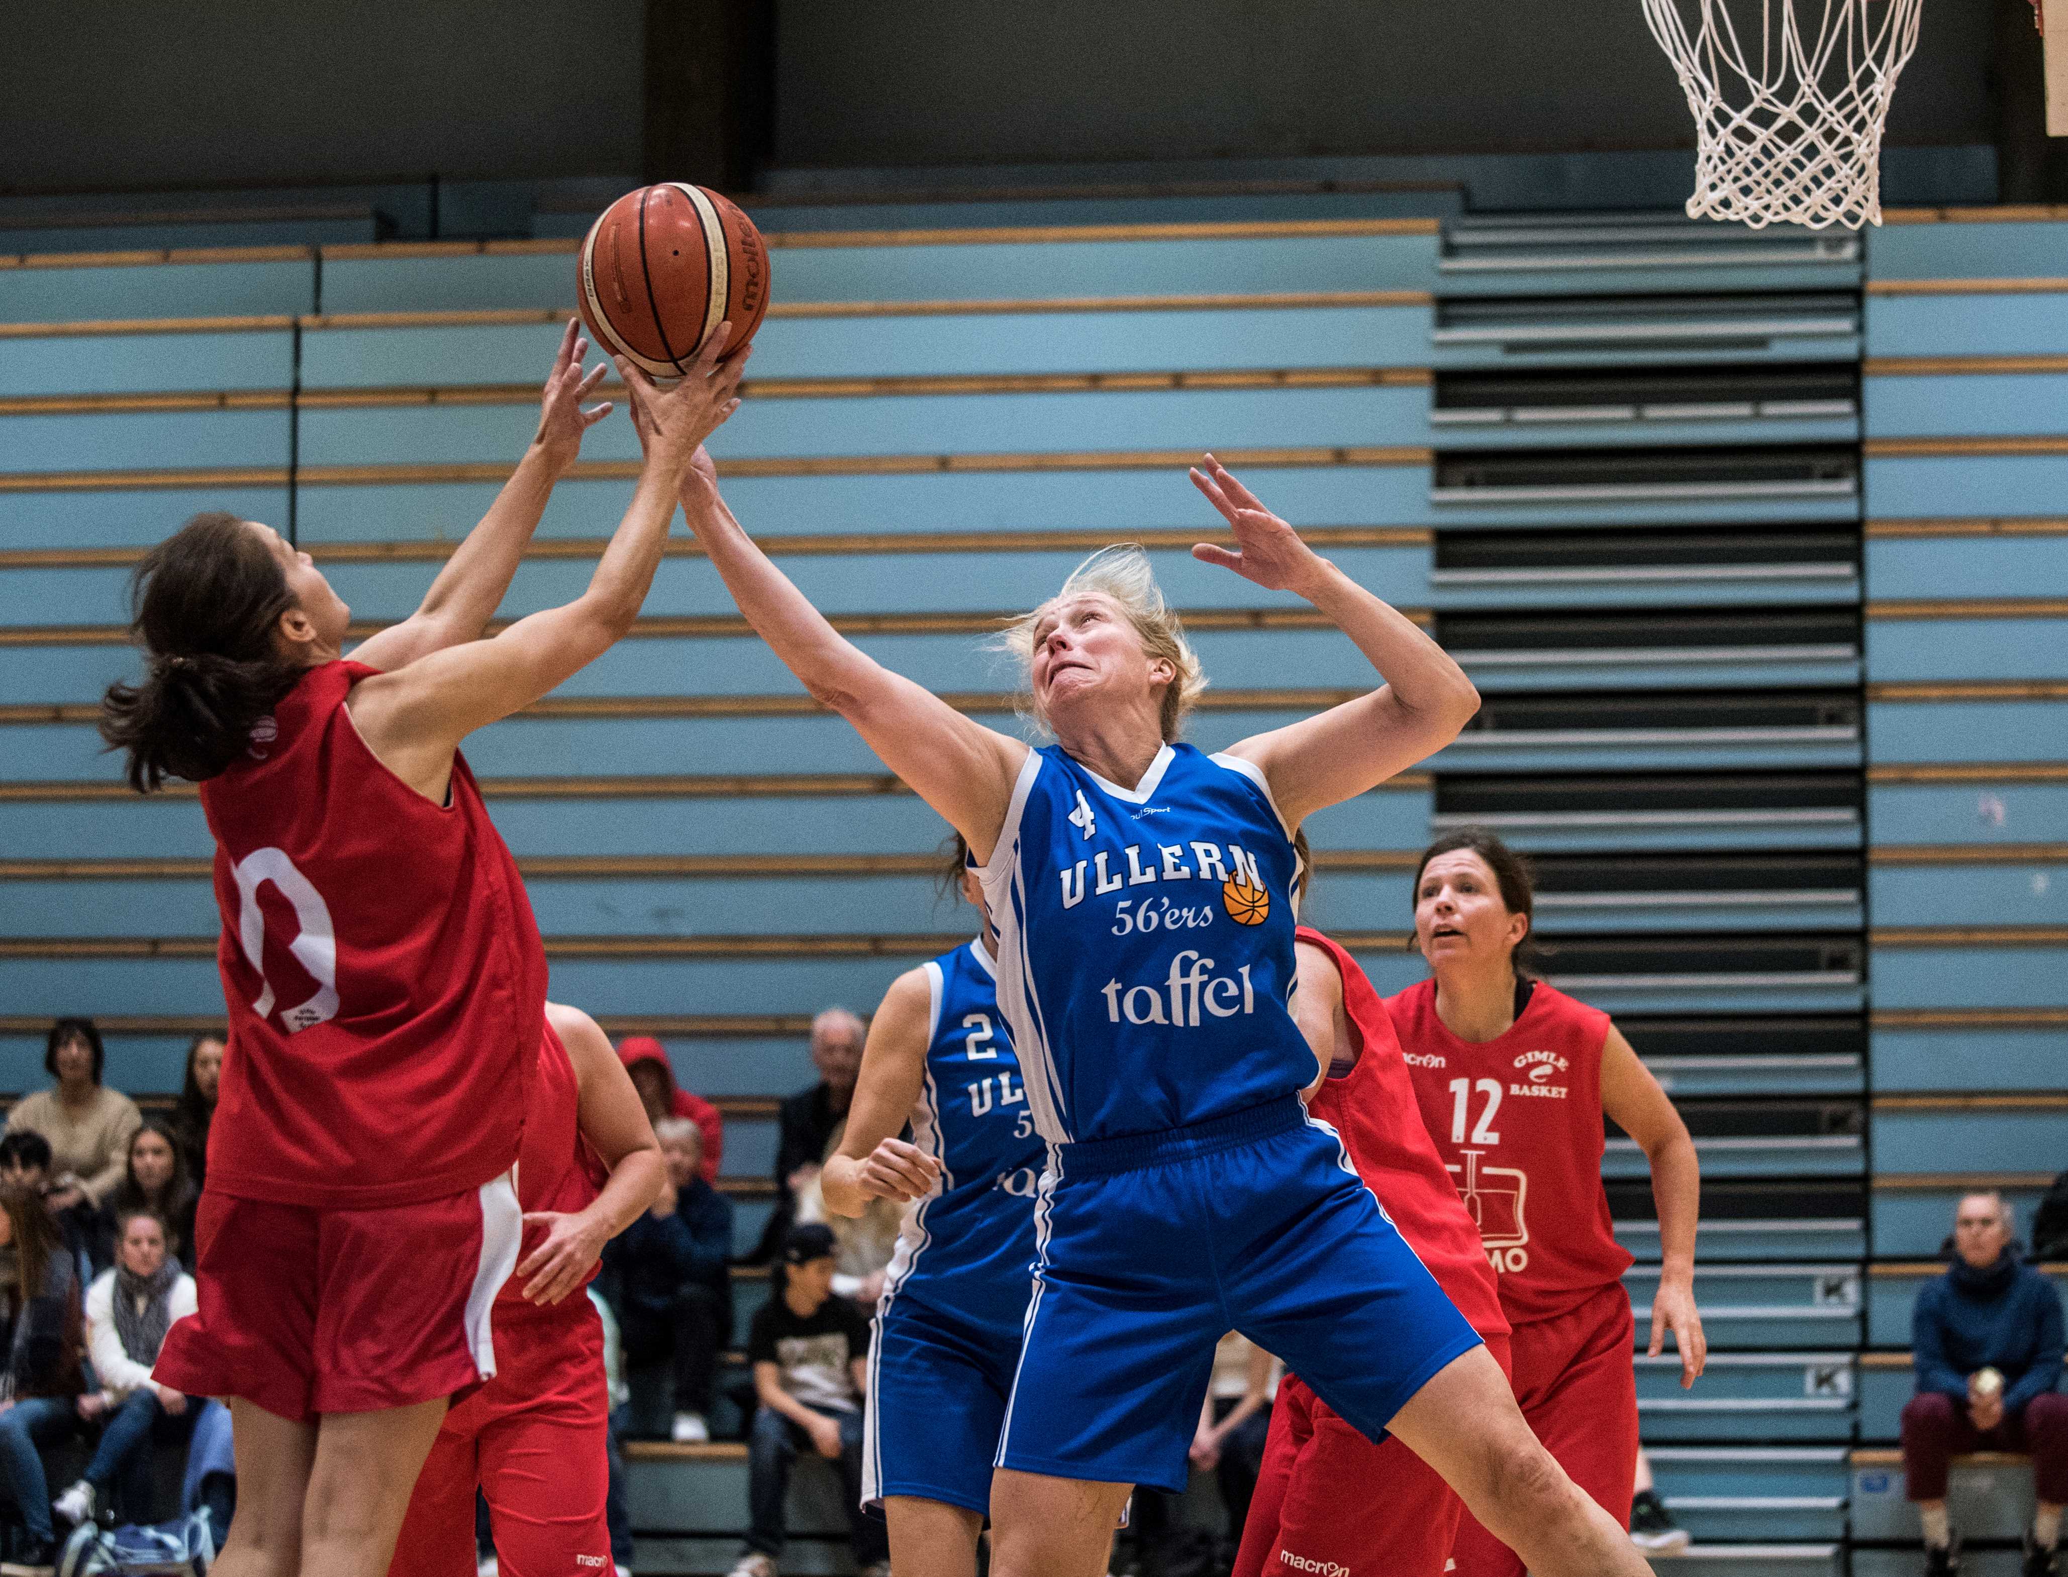
[{"label": "blue number 4 player's straight arm stretched up toward the ball", "polygon": [[755,635],[813,701],[846,717],[883,765],[989,860],[1028,746],[964,717],[840,635],[732,517],[709,465],[685,480],[682,513]]}]

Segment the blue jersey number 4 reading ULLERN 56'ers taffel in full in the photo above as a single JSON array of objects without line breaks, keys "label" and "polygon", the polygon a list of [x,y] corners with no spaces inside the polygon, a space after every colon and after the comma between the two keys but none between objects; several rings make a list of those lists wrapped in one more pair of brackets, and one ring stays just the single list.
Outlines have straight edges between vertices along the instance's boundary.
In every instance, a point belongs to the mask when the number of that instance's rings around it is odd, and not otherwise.
[{"label": "blue jersey number 4 reading ULLERN 56'ers taffel in full", "polygon": [[1299,856],[1264,773],[1166,744],[1133,790],[1028,754],[991,864],[999,1004],[1051,1143],[1179,1128],[1313,1081]]}]

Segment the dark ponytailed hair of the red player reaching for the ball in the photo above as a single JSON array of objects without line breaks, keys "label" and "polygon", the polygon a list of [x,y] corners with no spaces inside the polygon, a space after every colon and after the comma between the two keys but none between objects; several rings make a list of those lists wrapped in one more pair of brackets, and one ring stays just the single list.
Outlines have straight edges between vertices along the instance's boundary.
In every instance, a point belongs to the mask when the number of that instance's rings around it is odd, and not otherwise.
[{"label": "dark ponytailed hair of the red player reaching for the ball", "polygon": [[132,790],[201,783],[244,754],[252,725],[302,676],[273,647],[294,606],[279,560],[236,515],[196,515],[143,556],[130,639],[145,678],[101,699],[101,738],[128,752]]}]

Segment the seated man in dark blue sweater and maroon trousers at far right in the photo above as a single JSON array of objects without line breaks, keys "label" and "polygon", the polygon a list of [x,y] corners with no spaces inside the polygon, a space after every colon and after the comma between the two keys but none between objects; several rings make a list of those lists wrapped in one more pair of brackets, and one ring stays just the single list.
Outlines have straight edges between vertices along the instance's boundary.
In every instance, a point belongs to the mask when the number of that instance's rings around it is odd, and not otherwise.
[{"label": "seated man in dark blue sweater and maroon trousers at far right", "polygon": [[2068,1501],[2068,1397],[2062,1300],[2012,1246],[1998,1193],[1960,1199],[1954,1261],[1917,1294],[1911,1348],[1917,1395],[1903,1408],[1905,1492],[1925,1527],[1925,1571],[1960,1569],[1946,1519],[1946,1463],[1965,1451],[2031,1451],[2039,1507],[2025,1534],[2027,1577],[2047,1577]]}]

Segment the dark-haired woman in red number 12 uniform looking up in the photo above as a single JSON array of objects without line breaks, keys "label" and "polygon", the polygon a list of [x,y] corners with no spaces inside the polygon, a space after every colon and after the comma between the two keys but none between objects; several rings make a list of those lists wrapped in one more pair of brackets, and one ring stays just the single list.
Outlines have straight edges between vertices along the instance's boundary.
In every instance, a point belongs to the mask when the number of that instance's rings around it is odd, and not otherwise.
[{"label": "dark-haired woman in red number 12 uniform looking up", "polygon": [[[1687,1126],[1609,1015],[1516,967],[1530,918],[1528,868],[1501,839],[1439,837],[1415,872],[1415,940],[1433,978],[1386,1007],[1423,1122],[1499,1275],[1522,1416],[1628,1527],[1638,1391],[1621,1275],[1632,1261],[1601,1186],[1603,1112],[1650,1157],[1665,1248],[1650,1354],[1671,1331],[1683,1387],[1708,1354],[1694,1304],[1702,1178]],[[1470,1515],[1454,1558],[1458,1577],[1524,1571]]]}]

